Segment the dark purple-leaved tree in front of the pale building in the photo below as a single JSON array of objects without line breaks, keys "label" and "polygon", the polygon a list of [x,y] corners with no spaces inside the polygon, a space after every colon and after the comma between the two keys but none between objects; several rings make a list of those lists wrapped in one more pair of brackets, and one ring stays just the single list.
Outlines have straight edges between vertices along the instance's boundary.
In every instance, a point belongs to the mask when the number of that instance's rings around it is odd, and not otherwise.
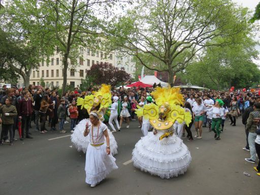
[{"label": "dark purple-leaved tree in front of the pale building", "polygon": [[109,84],[112,87],[131,80],[131,75],[122,68],[119,70],[109,63],[94,64],[90,70],[86,70],[86,82],[91,80],[92,85]]}]

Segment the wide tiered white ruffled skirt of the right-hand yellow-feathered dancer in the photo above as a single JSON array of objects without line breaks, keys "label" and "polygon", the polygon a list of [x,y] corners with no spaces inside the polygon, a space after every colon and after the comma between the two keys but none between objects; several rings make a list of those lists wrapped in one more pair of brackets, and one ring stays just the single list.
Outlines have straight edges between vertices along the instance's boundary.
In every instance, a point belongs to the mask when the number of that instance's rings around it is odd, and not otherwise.
[{"label": "wide tiered white ruffled skirt of the right-hand yellow-feathered dancer", "polygon": [[187,171],[190,152],[176,135],[160,141],[163,134],[149,132],[137,142],[133,150],[134,166],[161,178],[177,177]]}]

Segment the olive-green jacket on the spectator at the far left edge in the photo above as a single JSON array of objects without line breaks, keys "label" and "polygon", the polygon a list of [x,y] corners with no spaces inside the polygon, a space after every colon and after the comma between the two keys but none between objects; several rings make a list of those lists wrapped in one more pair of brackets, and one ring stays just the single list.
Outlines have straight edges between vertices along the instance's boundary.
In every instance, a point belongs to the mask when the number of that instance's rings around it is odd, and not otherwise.
[{"label": "olive-green jacket on the spectator at the far left edge", "polygon": [[[9,116],[5,116],[5,113],[9,113]],[[2,115],[3,124],[14,124],[14,117],[17,116],[17,111],[15,106],[3,105],[0,107],[0,115]]]}]

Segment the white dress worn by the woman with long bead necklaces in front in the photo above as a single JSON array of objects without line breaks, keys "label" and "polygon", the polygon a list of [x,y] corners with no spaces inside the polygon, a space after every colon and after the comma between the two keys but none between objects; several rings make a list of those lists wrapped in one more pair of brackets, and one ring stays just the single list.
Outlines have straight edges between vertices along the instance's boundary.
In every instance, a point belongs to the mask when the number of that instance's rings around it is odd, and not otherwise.
[{"label": "white dress worn by the woman with long bead necklaces in front", "polygon": [[[101,182],[114,169],[118,169],[115,158],[106,152],[106,139],[103,132],[107,129],[107,125],[100,122],[100,127],[89,126],[90,143],[86,152],[86,183],[95,184]],[[99,129],[99,130],[98,130]],[[92,139],[93,138],[93,139]],[[92,146],[91,144],[102,144],[101,146]]]}]

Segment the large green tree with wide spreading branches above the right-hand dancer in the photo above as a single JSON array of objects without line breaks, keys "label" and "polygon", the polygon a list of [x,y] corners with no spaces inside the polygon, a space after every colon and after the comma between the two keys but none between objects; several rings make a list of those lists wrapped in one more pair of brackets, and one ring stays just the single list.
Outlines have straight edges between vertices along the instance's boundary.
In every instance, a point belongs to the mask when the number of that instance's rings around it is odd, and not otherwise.
[{"label": "large green tree with wide spreading branches above the right-hand dancer", "polygon": [[[204,48],[228,45],[246,33],[246,14],[230,0],[143,0],[111,25],[110,40],[146,68],[167,71],[173,84],[174,75]],[[214,42],[223,37],[230,39]]]}]

